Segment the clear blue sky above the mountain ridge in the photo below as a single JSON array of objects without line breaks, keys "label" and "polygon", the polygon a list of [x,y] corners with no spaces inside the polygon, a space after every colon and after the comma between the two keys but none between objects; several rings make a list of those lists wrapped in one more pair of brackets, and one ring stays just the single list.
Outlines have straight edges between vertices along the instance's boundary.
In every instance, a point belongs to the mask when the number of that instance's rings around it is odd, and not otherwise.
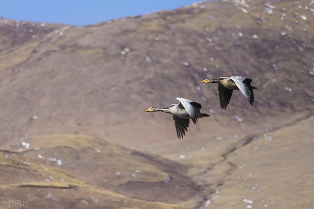
[{"label": "clear blue sky above the mountain ridge", "polygon": [[32,22],[87,25],[200,0],[0,0],[0,17]]}]

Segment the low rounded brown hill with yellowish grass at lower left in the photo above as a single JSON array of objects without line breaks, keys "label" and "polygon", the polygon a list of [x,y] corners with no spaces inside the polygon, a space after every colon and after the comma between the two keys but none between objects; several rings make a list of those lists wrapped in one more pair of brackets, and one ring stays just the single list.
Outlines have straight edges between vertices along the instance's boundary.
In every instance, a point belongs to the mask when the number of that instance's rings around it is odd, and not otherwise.
[{"label": "low rounded brown hill with yellowish grass at lower left", "polygon": [[186,170],[88,136],[33,137],[0,150],[0,198],[32,209],[179,209],[198,191]]}]

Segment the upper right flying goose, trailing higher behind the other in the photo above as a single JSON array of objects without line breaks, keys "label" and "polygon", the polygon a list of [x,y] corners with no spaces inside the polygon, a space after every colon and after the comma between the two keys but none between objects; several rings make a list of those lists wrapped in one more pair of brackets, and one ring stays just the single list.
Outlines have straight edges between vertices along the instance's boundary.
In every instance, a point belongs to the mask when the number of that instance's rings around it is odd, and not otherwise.
[{"label": "upper right flying goose, trailing higher behind the other", "polygon": [[253,105],[254,94],[253,89],[257,89],[251,86],[252,79],[242,76],[220,77],[217,80],[205,79],[202,83],[217,83],[218,92],[220,98],[220,108],[226,109],[231,99],[233,90],[240,90],[244,96]]}]

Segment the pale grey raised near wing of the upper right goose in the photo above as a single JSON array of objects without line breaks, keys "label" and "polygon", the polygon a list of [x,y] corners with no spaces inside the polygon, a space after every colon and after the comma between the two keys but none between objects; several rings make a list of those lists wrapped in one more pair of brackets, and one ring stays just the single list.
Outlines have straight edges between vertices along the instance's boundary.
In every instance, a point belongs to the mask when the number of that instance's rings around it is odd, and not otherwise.
[{"label": "pale grey raised near wing of the upper right goose", "polygon": [[251,87],[252,79],[245,78],[242,76],[231,76],[231,79],[235,82],[235,85],[244,94],[244,96],[249,100],[250,104],[253,105],[254,94]]}]

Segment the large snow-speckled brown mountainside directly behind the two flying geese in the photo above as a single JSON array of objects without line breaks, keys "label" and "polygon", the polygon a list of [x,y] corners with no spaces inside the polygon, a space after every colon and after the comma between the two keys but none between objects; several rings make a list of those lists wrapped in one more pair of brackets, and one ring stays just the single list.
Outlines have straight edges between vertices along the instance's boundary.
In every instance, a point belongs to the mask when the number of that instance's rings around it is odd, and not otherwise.
[{"label": "large snow-speckled brown mountainside directly behind the two flying geese", "polygon": [[[241,136],[312,111],[313,3],[241,2],[63,28],[1,53],[1,143],[55,133],[142,148],[177,141],[170,116],[143,112],[177,96],[212,115],[185,139]],[[217,87],[200,83],[228,75],[253,78],[253,107],[235,92],[220,110]]]}]

